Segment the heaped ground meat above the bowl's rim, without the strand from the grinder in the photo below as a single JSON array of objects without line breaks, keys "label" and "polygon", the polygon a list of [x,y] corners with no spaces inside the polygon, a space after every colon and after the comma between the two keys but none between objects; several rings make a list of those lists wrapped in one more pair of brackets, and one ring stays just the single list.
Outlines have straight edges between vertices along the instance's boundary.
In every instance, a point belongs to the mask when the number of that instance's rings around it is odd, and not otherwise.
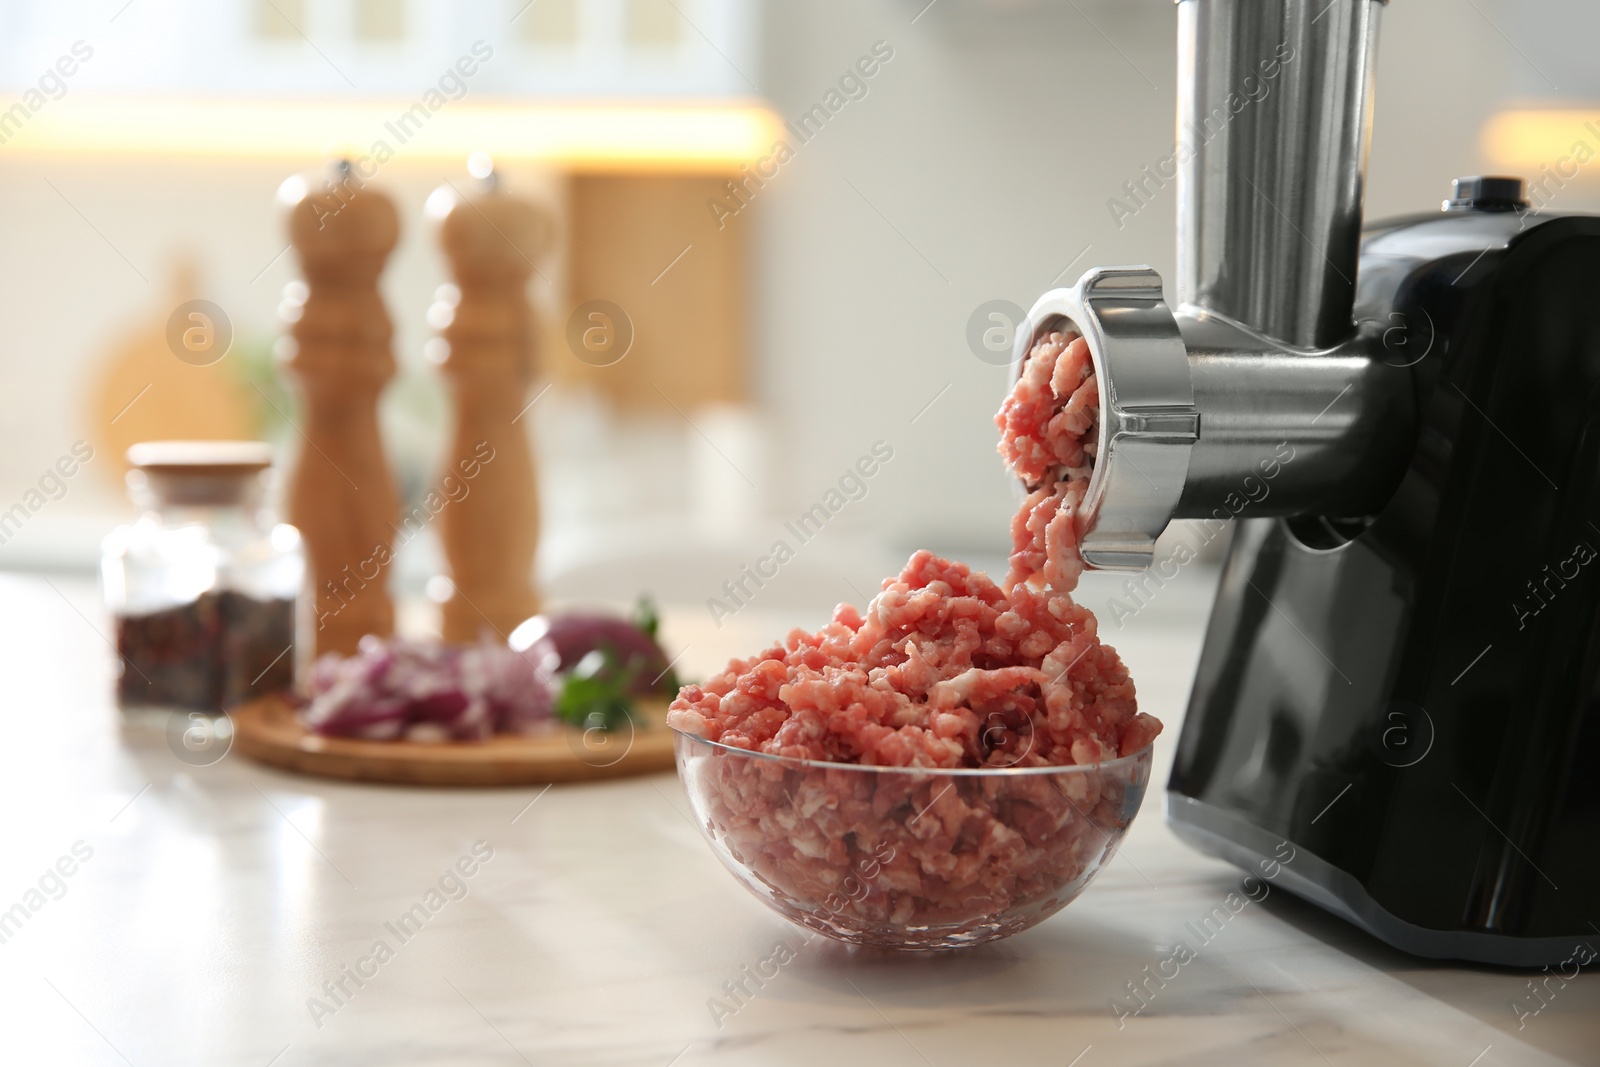
[{"label": "heaped ground meat above the bowl's rim, without the strand from the grinder", "polygon": [[862,617],[842,605],[672,702],[674,729],[738,749],[834,763],[982,768],[1099,763],[1160,723],[1066,593],[918,552]]}]

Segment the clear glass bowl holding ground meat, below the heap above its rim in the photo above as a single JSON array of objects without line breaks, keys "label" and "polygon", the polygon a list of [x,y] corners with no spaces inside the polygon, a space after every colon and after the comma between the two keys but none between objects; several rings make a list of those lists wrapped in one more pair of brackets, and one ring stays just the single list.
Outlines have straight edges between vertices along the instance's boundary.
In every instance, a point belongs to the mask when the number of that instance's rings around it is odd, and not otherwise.
[{"label": "clear glass bowl holding ground meat, below the heap above its rim", "polygon": [[784,918],[838,941],[957,949],[1074,901],[1115,854],[1150,747],[1106,763],[934,769],[824,763],[678,733],[694,821]]}]

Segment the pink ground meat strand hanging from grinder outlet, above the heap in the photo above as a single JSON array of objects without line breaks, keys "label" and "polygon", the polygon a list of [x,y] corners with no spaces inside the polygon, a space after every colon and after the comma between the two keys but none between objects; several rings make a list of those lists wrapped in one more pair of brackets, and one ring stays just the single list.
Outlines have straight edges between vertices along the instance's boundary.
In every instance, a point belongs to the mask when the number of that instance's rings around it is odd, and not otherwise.
[{"label": "pink ground meat strand hanging from grinder outlet, above the heap", "polygon": [[1080,507],[1099,446],[1099,379],[1088,341],[1074,330],[1038,338],[995,426],[1006,467],[1029,490],[1011,520],[1005,585],[1043,582],[1072,592],[1083,573]]}]

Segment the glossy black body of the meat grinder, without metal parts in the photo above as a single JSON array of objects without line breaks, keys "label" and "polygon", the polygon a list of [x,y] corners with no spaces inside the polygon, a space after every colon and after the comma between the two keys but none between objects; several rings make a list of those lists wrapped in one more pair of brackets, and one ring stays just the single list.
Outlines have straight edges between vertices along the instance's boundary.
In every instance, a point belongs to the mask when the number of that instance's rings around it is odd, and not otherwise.
[{"label": "glossy black body of the meat grinder, without metal parts", "polygon": [[[1174,832],[1406,952],[1600,945],[1600,218],[1370,226],[1355,314],[1416,443],[1362,518],[1238,522]],[[1594,949],[1587,947],[1587,958]]]}]

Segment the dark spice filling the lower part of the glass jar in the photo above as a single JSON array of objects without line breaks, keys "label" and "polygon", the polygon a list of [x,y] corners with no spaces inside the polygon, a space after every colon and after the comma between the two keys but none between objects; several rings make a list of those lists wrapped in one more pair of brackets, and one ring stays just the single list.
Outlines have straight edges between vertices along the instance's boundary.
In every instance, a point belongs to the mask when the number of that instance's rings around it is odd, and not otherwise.
[{"label": "dark spice filling the lower part of the glass jar", "polygon": [[294,685],[294,600],[206,592],[186,605],[118,614],[117,704],[216,712]]}]

